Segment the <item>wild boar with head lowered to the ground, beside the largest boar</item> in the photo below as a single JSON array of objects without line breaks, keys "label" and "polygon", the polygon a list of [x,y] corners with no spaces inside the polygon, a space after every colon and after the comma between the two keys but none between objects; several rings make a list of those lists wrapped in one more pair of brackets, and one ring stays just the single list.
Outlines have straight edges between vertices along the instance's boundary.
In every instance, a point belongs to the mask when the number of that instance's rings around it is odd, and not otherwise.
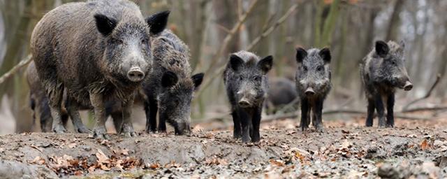
[{"label": "wild boar with head lowered to the ground, beside the largest boar", "polygon": [[[154,15],[167,15],[162,12]],[[146,131],[156,131],[156,113],[159,111],[158,131],[166,132],[166,122],[175,129],[175,134],[191,132],[191,101],[203,80],[203,73],[191,76],[189,48],[172,31],[165,30],[152,40],[154,52],[153,70],[143,84]]]}]

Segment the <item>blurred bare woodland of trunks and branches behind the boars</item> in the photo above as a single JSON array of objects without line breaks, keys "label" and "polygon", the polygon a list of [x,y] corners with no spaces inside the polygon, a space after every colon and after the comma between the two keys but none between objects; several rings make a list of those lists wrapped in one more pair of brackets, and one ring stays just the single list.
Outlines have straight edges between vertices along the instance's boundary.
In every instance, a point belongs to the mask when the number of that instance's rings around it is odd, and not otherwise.
[{"label": "blurred bare woodland of trunks and branches behind the boars", "polygon": [[[168,27],[191,48],[194,71],[207,72],[193,103],[195,122],[228,114],[220,72],[228,54],[238,50],[273,55],[270,76],[293,79],[296,46],[329,47],[334,90],[325,108],[341,108],[340,103],[346,108],[365,106],[358,62],[379,39],[406,43],[407,68],[415,89],[400,93],[398,99],[403,100],[397,105],[423,96],[434,76],[446,73],[447,1],[134,1],[145,15],[171,10]],[[0,74],[27,57],[31,31],[45,12],[68,2],[0,0]],[[23,71],[0,85],[0,120],[16,121],[18,132],[32,130]],[[446,80],[441,80],[434,91],[435,102],[444,102],[446,87]]]}]

